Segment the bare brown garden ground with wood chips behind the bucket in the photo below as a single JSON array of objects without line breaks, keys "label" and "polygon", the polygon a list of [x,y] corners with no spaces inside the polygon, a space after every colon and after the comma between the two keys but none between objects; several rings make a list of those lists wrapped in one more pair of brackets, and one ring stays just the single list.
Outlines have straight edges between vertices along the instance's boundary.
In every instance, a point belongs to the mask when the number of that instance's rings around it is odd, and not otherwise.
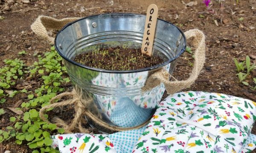
[{"label": "bare brown garden ground with wood chips behind the bucket", "polygon": [[[64,17],[86,17],[94,14],[111,12],[131,12],[145,14],[150,3],[157,4],[159,18],[176,24],[184,32],[189,29],[200,29],[206,35],[206,62],[201,75],[195,84],[187,90],[219,92],[235,95],[256,101],[256,91],[239,83],[233,58],[243,61],[250,55],[256,63],[256,1],[226,0],[221,9],[218,0],[212,0],[212,10],[207,11],[202,0],[189,3],[191,0],[0,0],[0,66],[4,59],[21,58],[26,64],[32,64],[39,54],[49,50],[45,40],[38,38],[30,29],[30,25],[38,15],[47,15],[58,19]],[[23,3],[25,2],[25,3]],[[8,4],[8,7],[3,7]],[[201,13],[201,15],[199,14]],[[5,19],[2,19],[2,18]],[[55,32],[50,31],[54,36]],[[188,44],[189,45],[189,44]],[[192,48],[193,51],[194,48]],[[25,56],[17,57],[17,53],[25,50]],[[177,80],[189,77],[193,58],[189,53],[181,56],[174,72]],[[256,77],[251,73],[248,80]],[[25,97],[21,97],[24,100]],[[3,107],[12,106],[13,101],[6,101]],[[1,107],[2,107],[1,106]],[[67,111],[68,112],[68,111]],[[65,112],[63,112],[65,113]],[[69,113],[72,114],[72,113]],[[12,112],[5,115],[13,116]],[[68,115],[68,114],[67,114]],[[66,116],[66,115],[65,115]],[[1,116],[1,118],[4,116]],[[0,128],[6,127],[1,119]],[[256,134],[256,127],[252,133]],[[26,145],[17,145],[13,141],[0,144],[0,147],[13,152],[30,152]],[[0,151],[1,152],[1,151]]]}]

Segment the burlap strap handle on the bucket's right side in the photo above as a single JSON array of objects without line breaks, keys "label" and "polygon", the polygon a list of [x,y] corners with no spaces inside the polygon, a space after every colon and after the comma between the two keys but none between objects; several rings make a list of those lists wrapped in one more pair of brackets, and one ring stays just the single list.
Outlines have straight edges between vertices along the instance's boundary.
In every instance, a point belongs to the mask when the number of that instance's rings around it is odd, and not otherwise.
[{"label": "burlap strap handle on the bucket's right side", "polygon": [[184,81],[169,81],[169,72],[166,70],[160,70],[148,77],[144,90],[152,89],[156,87],[157,84],[160,84],[160,82],[163,82],[166,87],[166,91],[169,94],[173,94],[182,89],[189,88],[195,82],[204,66],[205,36],[204,33],[198,29],[192,29],[185,32],[185,36],[187,39],[192,39],[191,44],[196,47],[194,67],[189,78]]}]

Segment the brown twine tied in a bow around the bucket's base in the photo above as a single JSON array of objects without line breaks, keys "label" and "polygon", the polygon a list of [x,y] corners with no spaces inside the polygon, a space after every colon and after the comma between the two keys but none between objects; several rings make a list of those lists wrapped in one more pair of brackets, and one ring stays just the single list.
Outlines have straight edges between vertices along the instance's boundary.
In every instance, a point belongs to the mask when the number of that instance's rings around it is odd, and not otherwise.
[{"label": "brown twine tied in a bow around the bucket's base", "polygon": [[[45,117],[44,117],[44,112],[49,109],[49,108],[55,108],[55,107],[61,107],[61,106],[67,106],[67,105],[74,105],[75,108],[75,114],[72,122],[70,124],[67,124],[65,121],[63,121],[60,118],[53,118],[54,123],[57,125],[57,128],[64,128],[65,133],[73,133],[75,130],[79,130],[81,133],[90,133],[89,130],[85,129],[82,126],[82,121],[85,119],[83,118],[84,115],[89,117],[90,119],[93,120],[96,124],[98,124],[101,127],[105,127],[109,130],[112,131],[125,131],[125,130],[134,130],[134,129],[140,129],[141,127],[144,127],[145,125],[148,124],[149,120],[146,121],[145,123],[136,126],[136,127],[117,127],[117,126],[111,126],[108,123],[104,122],[101,120],[100,115],[95,115],[90,110],[88,109],[88,104],[93,101],[92,98],[85,100],[81,100],[81,93],[77,93],[75,89],[73,89],[72,92],[63,92],[59,95],[56,95],[53,97],[49,102],[51,103],[48,106],[45,106],[41,108],[39,111],[39,116],[41,119],[47,123],[49,122]],[[70,96],[72,97],[71,99],[61,101],[61,102],[55,102],[58,99],[64,98]]]}]

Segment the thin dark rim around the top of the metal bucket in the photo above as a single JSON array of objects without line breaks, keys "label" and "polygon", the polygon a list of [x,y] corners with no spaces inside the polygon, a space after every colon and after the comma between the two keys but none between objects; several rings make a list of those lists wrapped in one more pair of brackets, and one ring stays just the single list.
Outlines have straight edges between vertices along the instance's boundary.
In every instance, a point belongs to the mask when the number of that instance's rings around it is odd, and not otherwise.
[{"label": "thin dark rim around the top of the metal bucket", "polygon": [[177,28],[177,29],[180,31],[180,33],[181,33],[181,35],[183,36],[183,38],[184,38],[184,46],[183,46],[183,48],[181,49],[181,51],[179,52],[179,54],[176,55],[174,58],[169,59],[168,61],[166,61],[166,62],[164,62],[164,63],[162,63],[162,64],[158,64],[158,65],[151,66],[151,67],[146,67],[146,68],[143,68],[143,69],[134,69],[134,70],[125,70],[125,71],[114,71],[114,70],[107,70],[107,69],[97,69],[97,68],[93,68],[93,67],[90,67],[90,66],[85,66],[85,65],[76,63],[75,61],[72,61],[70,58],[67,58],[65,55],[63,55],[63,54],[59,51],[59,49],[58,49],[58,47],[57,47],[56,41],[57,41],[58,35],[59,35],[64,29],[66,29],[68,26],[70,26],[70,25],[72,25],[73,23],[76,23],[76,22],[78,22],[78,21],[80,21],[80,20],[84,20],[84,19],[89,18],[89,17],[99,16],[99,15],[107,15],[107,14],[109,14],[109,15],[111,15],[111,14],[131,14],[131,15],[139,15],[139,16],[144,16],[144,17],[145,17],[145,15],[143,15],[143,14],[134,14],[134,13],[105,13],[105,14],[91,15],[91,16],[88,16],[88,17],[82,17],[81,19],[78,19],[78,20],[75,20],[75,21],[73,21],[73,22],[67,23],[67,25],[65,25],[60,31],[58,31],[58,33],[57,33],[57,35],[56,35],[56,37],[55,37],[55,40],[54,40],[54,47],[55,47],[56,51],[58,52],[58,54],[61,55],[61,57],[64,58],[65,60],[67,60],[68,62],[70,62],[70,63],[72,63],[72,64],[74,64],[74,65],[76,65],[76,66],[80,66],[81,68],[84,68],[84,69],[90,69],[90,70],[93,70],[93,71],[97,71],[97,72],[106,72],[106,73],[136,73],[136,72],[144,72],[144,71],[149,71],[149,70],[151,70],[151,69],[157,69],[157,68],[159,68],[159,67],[163,67],[163,66],[165,66],[166,64],[169,64],[169,63],[171,63],[172,61],[174,61],[174,60],[176,60],[177,58],[179,58],[180,55],[183,54],[183,52],[185,52],[185,49],[186,49],[186,36],[185,36],[185,34],[184,34],[177,26],[175,26],[174,24],[172,24],[172,23],[170,23],[170,22],[168,22],[168,21],[166,21],[166,20],[159,19],[159,18],[157,18],[157,20],[161,20],[161,21],[163,21],[163,22],[169,23],[169,24],[171,24],[172,26],[174,26],[175,28]]}]

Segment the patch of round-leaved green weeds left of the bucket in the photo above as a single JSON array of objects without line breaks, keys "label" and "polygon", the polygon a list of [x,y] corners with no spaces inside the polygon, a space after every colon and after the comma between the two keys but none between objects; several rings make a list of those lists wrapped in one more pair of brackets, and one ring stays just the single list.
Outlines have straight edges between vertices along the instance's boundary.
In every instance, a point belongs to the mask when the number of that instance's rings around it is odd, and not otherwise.
[{"label": "patch of round-leaved green weeds left of the bucket", "polygon": [[[26,52],[19,52],[23,55]],[[27,98],[18,110],[24,113],[10,116],[8,127],[0,130],[0,143],[9,139],[16,139],[17,144],[26,144],[32,153],[56,153],[58,151],[51,147],[52,133],[64,133],[64,129],[57,129],[55,124],[48,124],[39,117],[39,110],[49,104],[49,100],[57,93],[64,91],[61,84],[70,82],[67,77],[66,67],[61,64],[61,57],[54,47],[44,55],[36,55],[38,61],[33,65],[26,66],[19,59],[5,60],[5,66],[0,68],[0,105],[4,106],[6,101],[12,101],[15,96],[25,94]],[[16,88],[19,81],[33,81],[34,78],[40,82],[36,88]],[[16,97],[17,98],[17,97]],[[49,109],[51,110],[51,109]],[[48,110],[48,111],[49,111]],[[0,115],[6,110],[0,109]],[[45,115],[48,118],[48,115]]]}]

